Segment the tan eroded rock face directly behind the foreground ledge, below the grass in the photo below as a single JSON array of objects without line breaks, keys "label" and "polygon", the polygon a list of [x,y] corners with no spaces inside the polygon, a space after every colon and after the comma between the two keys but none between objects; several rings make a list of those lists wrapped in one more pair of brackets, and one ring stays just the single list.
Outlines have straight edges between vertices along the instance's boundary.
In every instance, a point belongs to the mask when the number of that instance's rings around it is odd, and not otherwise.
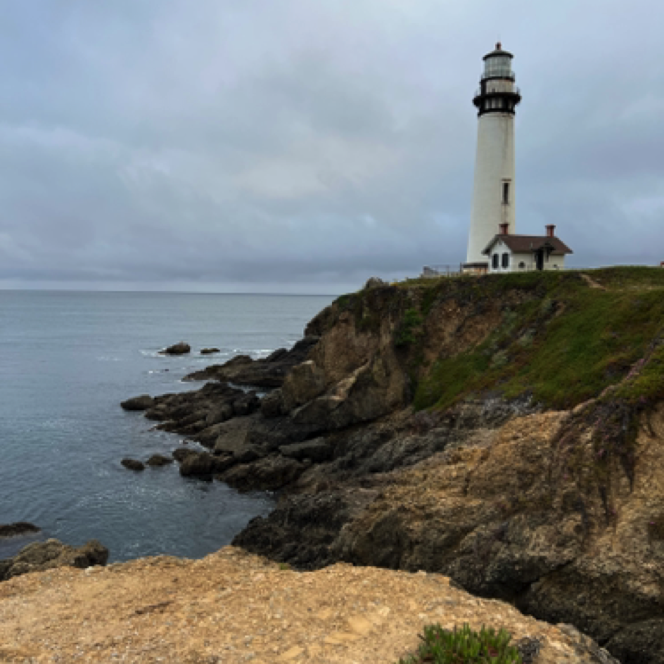
[{"label": "tan eroded rock face directly behind the foreground ledge, below the grass", "polygon": [[402,472],[344,526],[334,553],[445,573],[471,592],[569,620],[625,661],[664,661],[664,405],[639,431],[633,486],[613,460],[604,495],[589,432],[566,463],[559,435],[570,416],[514,419],[489,445]]}]

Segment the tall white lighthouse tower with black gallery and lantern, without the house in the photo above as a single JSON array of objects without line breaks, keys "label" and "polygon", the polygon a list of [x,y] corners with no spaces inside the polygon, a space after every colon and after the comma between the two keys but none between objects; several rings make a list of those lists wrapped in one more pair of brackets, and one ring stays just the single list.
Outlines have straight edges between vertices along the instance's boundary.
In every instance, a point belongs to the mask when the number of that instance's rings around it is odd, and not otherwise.
[{"label": "tall white lighthouse tower with black gallery and lantern, without the house", "polygon": [[514,84],[513,55],[500,43],[487,53],[480,89],[473,103],[478,108],[478,143],[475,158],[475,186],[468,257],[464,271],[485,272],[487,243],[497,234],[499,224],[506,233],[516,230],[514,222],[514,114],[521,101]]}]

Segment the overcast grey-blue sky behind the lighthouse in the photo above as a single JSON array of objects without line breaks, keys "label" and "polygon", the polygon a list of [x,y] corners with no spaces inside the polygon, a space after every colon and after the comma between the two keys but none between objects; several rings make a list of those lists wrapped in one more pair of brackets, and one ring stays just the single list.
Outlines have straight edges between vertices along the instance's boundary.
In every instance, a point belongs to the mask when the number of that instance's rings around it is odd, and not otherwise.
[{"label": "overcast grey-blue sky behind the lighthouse", "polygon": [[0,6],[0,287],[339,293],[458,265],[498,38],[517,232],[664,260],[660,0]]}]

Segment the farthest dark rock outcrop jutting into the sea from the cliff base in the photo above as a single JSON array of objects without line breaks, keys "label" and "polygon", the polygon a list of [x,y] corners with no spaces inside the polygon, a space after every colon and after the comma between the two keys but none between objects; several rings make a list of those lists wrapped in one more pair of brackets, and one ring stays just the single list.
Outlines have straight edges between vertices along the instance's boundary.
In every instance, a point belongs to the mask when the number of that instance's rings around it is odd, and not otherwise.
[{"label": "farthest dark rock outcrop jutting into the sea from the cliff base", "polygon": [[265,359],[251,359],[238,355],[226,364],[212,364],[203,371],[185,376],[185,381],[224,381],[236,385],[254,385],[262,388],[281,387],[290,369],[305,362],[309,351],[318,343],[317,336],[306,336],[290,350],[280,348]]}]

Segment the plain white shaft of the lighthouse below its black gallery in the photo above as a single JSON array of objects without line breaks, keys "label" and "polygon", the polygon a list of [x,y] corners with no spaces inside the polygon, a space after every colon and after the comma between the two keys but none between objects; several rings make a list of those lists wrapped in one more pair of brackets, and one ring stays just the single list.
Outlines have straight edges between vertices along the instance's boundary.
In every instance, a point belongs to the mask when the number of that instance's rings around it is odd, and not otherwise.
[{"label": "plain white shaft of the lighthouse below its black gallery", "polygon": [[[509,204],[502,203],[502,184],[510,183]],[[471,229],[468,234],[467,262],[486,262],[482,250],[498,232],[498,224],[509,224],[514,234],[516,181],[514,170],[514,116],[487,113],[478,118],[475,157],[475,186]]]}]

